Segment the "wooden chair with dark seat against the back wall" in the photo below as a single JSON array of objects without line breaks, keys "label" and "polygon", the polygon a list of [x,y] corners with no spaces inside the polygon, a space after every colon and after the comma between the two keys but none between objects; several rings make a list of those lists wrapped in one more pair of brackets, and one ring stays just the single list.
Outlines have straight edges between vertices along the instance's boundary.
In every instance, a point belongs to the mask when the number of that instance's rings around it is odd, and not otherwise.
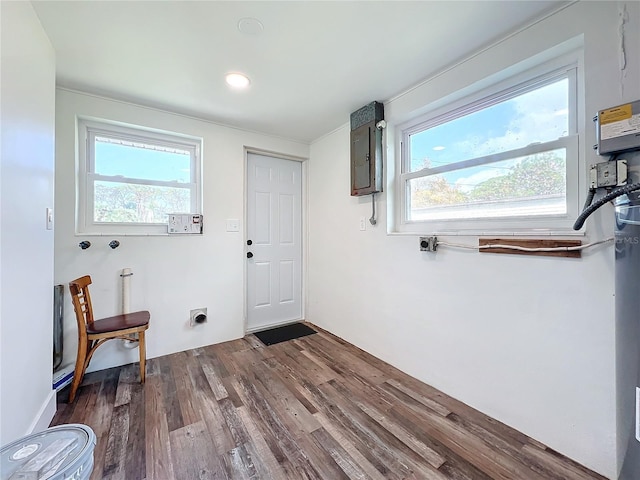
[{"label": "wooden chair with dark seat against the back wall", "polygon": [[139,341],[140,383],[144,383],[146,367],[144,332],[149,328],[151,315],[147,311],[140,311],[94,320],[89,285],[91,285],[91,277],[89,275],[77,278],[69,283],[73,309],[76,312],[76,320],[78,321],[78,356],[73,373],[73,382],[71,383],[71,392],[69,393],[69,403],[73,403],[76,398],[76,392],[93,353],[107,340],[120,338]]}]

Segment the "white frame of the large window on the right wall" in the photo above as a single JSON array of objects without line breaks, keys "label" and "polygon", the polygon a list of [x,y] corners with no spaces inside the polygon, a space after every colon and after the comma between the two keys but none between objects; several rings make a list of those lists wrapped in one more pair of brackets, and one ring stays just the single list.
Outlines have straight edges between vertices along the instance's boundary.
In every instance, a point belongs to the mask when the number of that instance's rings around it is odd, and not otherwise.
[{"label": "white frame of the large window on the right wall", "polygon": [[[509,78],[495,82],[489,87],[476,89],[475,93],[462,99],[452,100],[413,118],[395,128],[395,221],[396,233],[431,235],[574,235],[573,222],[579,214],[580,188],[583,186],[584,168],[581,165],[581,139],[584,124],[580,121],[582,102],[582,61],[581,51],[563,55]],[[569,134],[543,144],[533,144],[507,152],[487,155],[460,162],[460,168],[487,164],[510,158],[518,158],[542,153],[558,148],[566,148],[566,202],[567,212],[563,215],[535,215],[518,217],[466,218],[449,220],[408,220],[409,189],[407,182],[412,178],[424,177],[425,170],[410,172],[409,136],[428,128],[460,118],[466,114],[488,108],[505,99],[534,90],[566,76],[569,79]],[[486,83],[485,83],[486,84]],[[455,97],[452,94],[452,97]],[[429,174],[442,173],[447,167],[427,169]],[[584,232],[579,232],[583,234]]]}]

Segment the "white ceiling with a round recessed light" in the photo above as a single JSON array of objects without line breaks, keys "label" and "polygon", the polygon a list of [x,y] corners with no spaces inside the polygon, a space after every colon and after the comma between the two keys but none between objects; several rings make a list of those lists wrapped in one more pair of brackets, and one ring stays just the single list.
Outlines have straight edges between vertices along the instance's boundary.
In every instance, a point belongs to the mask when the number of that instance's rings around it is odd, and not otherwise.
[{"label": "white ceiling with a round recessed light", "polygon": [[[32,2],[58,85],[303,142],[566,3]],[[245,17],[262,33],[242,33]],[[229,71],[250,88],[227,87]]]}]

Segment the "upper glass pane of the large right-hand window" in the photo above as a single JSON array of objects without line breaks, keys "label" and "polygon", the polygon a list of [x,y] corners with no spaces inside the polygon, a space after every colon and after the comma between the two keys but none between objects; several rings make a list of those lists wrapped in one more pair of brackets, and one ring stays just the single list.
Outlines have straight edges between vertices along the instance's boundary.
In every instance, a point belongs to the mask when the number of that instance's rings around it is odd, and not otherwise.
[{"label": "upper glass pane of the large right-hand window", "polygon": [[410,172],[569,135],[569,80],[410,135]]}]

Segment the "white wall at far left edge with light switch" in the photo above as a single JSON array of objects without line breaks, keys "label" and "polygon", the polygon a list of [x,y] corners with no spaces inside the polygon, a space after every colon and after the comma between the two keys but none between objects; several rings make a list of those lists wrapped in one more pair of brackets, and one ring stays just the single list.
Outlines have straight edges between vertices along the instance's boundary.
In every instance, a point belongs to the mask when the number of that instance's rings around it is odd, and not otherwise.
[{"label": "white wall at far left edge with light switch", "polygon": [[55,412],[53,207],[55,56],[29,2],[1,2],[0,445]]}]

